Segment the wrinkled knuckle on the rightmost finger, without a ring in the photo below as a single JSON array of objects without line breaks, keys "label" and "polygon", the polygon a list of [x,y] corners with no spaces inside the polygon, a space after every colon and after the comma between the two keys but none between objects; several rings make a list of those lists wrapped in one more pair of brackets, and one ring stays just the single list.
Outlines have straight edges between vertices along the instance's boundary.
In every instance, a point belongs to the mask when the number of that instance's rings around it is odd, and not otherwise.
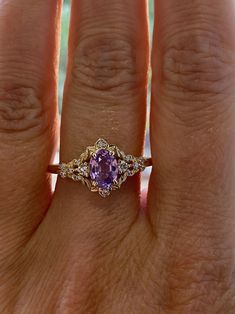
[{"label": "wrinkled knuckle on the rightmost finger, without a ring", "polygon": [[[214,29],[200,27],[181,31],[164,49],[162,76],[179,96],[223,94],[234,77],[233,52],[225,48]],[[180,93],[181,91],[181,93]]]}]

